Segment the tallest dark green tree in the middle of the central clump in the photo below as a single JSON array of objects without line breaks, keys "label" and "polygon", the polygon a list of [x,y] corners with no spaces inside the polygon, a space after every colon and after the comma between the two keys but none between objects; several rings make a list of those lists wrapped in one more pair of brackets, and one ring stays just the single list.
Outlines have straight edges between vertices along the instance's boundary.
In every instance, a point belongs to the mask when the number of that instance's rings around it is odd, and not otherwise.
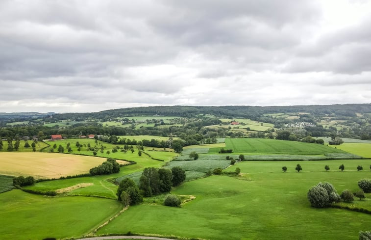
[{"label": "tallest dark green tree in the middle of the central clump", "polygon": [[146,167],[139,179],[139,188],[143,190],[145,197],[151,197],[160,193],[160,178],[158,169],[155,167]]}]

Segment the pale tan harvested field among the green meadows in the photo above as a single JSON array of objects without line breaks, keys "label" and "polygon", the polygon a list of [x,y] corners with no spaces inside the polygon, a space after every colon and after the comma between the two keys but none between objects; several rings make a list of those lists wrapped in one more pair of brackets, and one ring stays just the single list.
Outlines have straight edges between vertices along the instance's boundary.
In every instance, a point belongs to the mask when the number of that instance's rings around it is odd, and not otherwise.
[{"label": "pale tan harvested field among the green meadows", "polygon": [[[59,178],[89,173],[105,158],[58,153],[0,153],[0,174]],[[122,162],[120,162],[123,164]]]}]

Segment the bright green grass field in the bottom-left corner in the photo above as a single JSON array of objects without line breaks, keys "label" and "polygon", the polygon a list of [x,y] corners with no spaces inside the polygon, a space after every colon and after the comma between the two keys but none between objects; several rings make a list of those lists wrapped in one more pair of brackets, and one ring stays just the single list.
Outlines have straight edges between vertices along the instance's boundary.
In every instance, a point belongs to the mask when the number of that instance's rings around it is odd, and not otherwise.
[{"label": "bright green grass field in the bottom-left corner", "polygon": [[0,194],[2,240],[71,238],[88,234],[122,209],[115,200],[43,197],[12,190]]}]

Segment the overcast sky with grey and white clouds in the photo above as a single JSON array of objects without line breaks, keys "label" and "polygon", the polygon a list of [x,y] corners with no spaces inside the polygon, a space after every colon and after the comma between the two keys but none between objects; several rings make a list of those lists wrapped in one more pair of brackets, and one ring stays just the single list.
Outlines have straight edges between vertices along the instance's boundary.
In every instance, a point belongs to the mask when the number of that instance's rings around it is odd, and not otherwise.
[{"label": "overcast sky with grey and white clouds", "polygon": [[0,112],[371,103],[371,0],[1,0]]}]

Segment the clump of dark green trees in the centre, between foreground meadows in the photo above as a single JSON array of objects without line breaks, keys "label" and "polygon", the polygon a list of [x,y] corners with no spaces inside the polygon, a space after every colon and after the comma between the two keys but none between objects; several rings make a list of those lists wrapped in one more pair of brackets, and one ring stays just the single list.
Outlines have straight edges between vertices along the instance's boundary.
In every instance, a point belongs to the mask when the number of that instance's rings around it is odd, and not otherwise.
[{"label": "clump of dark green trees in the centre, between foreground meadows", "polygon": [[125,206],[141,203],[144,197],[151,197],[169,192],[172,187],[185,180],[185,171],[180,167],[166,168],[147,167],[143,170],[139,186],[132,179],[125,178],[117,189],[118,200]]}]

